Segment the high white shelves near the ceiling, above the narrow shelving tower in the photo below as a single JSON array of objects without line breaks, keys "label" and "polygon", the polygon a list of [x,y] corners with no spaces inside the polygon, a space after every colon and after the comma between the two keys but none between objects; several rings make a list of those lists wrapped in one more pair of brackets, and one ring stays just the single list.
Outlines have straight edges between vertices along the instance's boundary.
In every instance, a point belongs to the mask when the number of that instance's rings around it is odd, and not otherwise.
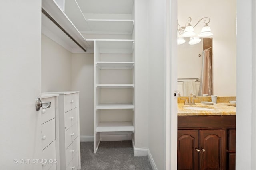
[{"label": "high white shelves near the ceiling, above the narrow shelving tower", "polygon": [[66,0],[65,13],[81,33],[131,35],[134,28],[133,2]]}]

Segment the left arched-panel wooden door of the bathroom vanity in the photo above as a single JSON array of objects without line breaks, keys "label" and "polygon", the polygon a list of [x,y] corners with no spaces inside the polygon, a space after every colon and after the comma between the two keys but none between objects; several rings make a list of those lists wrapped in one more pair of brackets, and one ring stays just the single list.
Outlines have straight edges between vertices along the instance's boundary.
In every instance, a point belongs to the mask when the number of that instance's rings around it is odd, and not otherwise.
[{"label": "left arched-panel wooden door of the bathroom vanity", "polygon": [[198,170],[198,130],[178,130],[178,170]]}]

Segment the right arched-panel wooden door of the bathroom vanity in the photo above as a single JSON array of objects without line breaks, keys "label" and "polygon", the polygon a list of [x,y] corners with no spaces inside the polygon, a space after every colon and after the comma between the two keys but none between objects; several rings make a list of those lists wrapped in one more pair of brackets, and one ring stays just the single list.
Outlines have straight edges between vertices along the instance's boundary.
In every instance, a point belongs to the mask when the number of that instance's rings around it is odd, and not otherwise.
[{"label": "right arched-panel wooden door of the bathroom vanity", "polygon": [[224,170],[225,131],[200,130],[200,170]]}]

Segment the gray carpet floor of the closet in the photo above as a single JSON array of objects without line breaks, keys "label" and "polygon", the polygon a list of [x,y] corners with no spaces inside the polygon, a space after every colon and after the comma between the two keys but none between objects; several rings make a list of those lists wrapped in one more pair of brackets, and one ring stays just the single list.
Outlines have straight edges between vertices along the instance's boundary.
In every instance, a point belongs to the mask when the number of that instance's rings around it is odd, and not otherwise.
[{"label": "gray carpet floor of the closet", "polygon": [[81,170],[152,170],[148,156],[134,156],[131,141],[81,142]]}]

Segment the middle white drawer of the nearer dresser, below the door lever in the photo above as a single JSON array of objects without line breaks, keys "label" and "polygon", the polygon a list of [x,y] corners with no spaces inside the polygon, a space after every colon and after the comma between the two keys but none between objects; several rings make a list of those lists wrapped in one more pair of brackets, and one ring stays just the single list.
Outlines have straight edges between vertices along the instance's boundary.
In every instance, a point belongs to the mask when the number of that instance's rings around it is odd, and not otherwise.
[{"label": "middle white drawer of the nearer dresser, below the door lever", "polygon": [[42,150],[55,140],[55,119],[41,125]]}]

